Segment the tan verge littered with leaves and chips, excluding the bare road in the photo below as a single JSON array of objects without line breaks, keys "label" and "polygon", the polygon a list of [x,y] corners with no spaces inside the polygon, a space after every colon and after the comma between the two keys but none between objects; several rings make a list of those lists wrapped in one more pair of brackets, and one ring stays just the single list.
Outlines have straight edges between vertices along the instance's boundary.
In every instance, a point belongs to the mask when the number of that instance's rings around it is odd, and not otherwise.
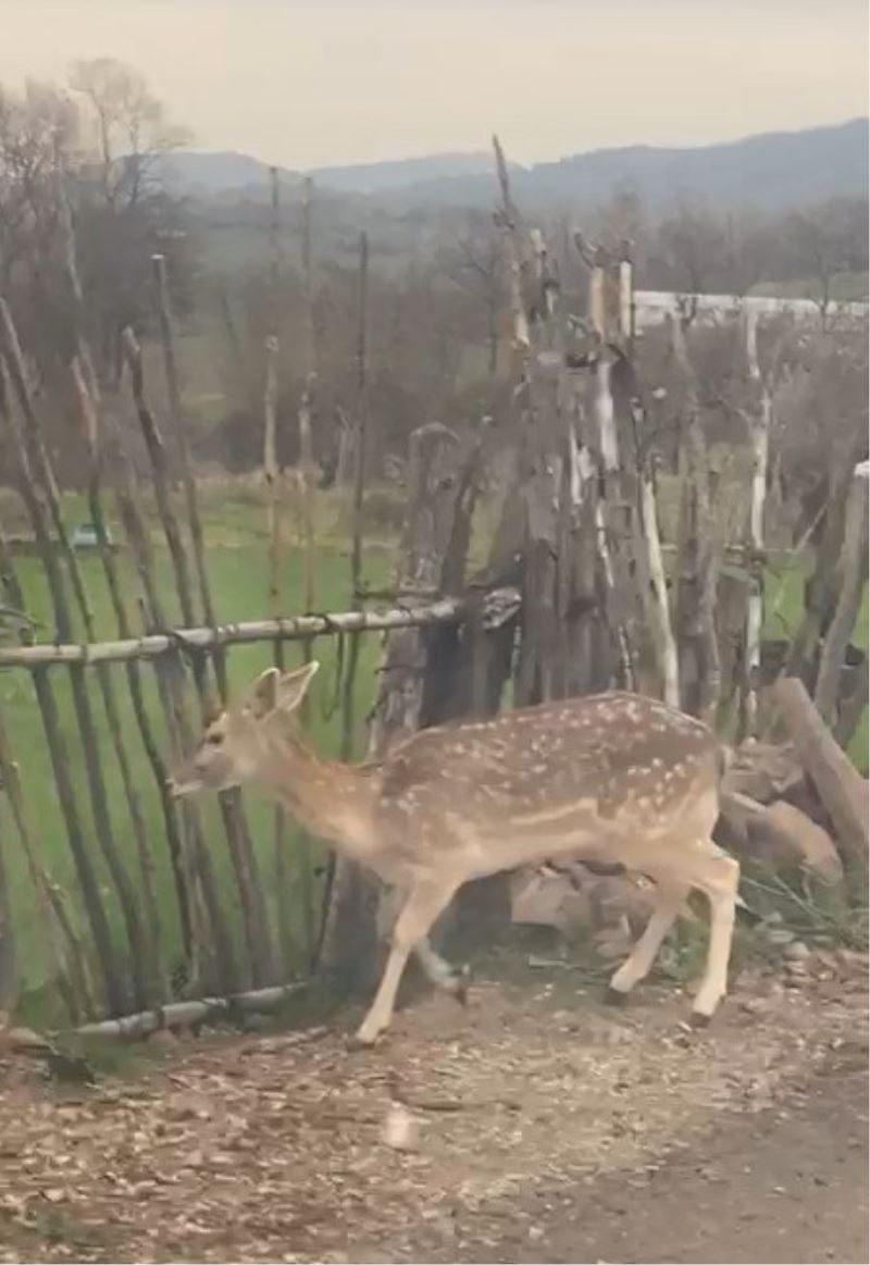
[{"label": "tan verge littered with leaves and chips, excluding the bare road", "polygon": [[741,980],[703,1034],[670,989],[611,1011],[529,972],[426,998],[373,1051],[212,1036],[75,1092],[0,1063],[0,1260],[412,1260],[421,1227],[449,1260],[475,1209],[655,1165],[860,1045],[865,964],[806,968]]}]

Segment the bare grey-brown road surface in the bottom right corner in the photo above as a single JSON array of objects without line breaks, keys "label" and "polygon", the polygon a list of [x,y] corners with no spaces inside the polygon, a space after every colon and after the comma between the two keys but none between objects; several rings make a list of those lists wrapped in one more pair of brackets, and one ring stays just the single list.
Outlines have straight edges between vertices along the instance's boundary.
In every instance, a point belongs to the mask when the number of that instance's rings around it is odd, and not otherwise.
[{"label": "bare grey-brown road surface in the bottom right corner", "polygon": [[660,1166],[479,1209],[454,1255],[414,1246],[469,1262],[866,1262],[866,1071],[819,1075]]}]

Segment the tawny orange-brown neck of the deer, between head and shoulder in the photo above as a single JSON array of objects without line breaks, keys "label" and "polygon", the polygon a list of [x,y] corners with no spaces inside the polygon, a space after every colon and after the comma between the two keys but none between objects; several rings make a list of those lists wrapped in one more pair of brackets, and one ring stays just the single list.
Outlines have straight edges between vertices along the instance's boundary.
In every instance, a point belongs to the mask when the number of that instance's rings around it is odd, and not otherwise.
[{"label": "tawny orange-brown neck of the deer, between head and shoulder", "polygon": [[305,829],[360,860],[377,848],[372,805],[377,770],[321,760],[297,734],[268,734],[255,779]]}]

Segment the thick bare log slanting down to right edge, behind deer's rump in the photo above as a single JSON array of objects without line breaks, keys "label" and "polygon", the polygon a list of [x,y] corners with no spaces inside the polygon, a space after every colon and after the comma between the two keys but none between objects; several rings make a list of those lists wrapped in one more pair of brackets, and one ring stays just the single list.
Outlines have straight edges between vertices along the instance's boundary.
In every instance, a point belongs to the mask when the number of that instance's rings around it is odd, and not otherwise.
[{"label": "thick bare log slanting down to right edge, behind deer's rump", "polygon": [[850,860],[866,868],[867,782],[837,746],[802,681],[781,678],[774,687],[774,697],[798,758],[833,822],[837,842]]}]

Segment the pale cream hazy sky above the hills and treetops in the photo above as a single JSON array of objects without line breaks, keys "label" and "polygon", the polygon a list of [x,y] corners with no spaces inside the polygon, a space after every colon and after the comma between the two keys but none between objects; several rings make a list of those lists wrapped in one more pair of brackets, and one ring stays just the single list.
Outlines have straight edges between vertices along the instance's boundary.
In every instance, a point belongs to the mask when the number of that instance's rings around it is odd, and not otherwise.
[{"label": "pale cream hazy sky above the hills and treetops", "polygon": [[0,0],[0,82],[137,66],[195,147],[520,162],[867,113],[866,0]]}]

